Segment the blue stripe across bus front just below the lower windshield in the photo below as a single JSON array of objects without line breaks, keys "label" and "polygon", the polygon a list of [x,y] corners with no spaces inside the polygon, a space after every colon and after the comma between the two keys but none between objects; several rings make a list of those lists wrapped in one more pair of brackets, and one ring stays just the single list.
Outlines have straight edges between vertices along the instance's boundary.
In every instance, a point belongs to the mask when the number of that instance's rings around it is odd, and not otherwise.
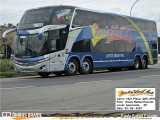
[{"label": "blue stripe across bus front just below the lower windshield", "polygon": [[29,62],[37,62],[43,59],[44,59],[44,56],[35,57],[35,58],[22,58],[22,59],[18,58],[17,60],[16,59],[15,60],[22,63],[29,63]]}]

